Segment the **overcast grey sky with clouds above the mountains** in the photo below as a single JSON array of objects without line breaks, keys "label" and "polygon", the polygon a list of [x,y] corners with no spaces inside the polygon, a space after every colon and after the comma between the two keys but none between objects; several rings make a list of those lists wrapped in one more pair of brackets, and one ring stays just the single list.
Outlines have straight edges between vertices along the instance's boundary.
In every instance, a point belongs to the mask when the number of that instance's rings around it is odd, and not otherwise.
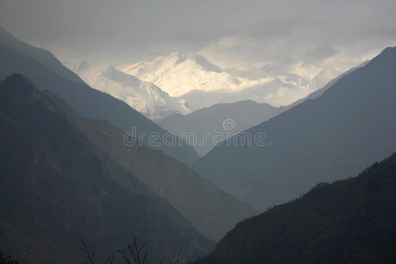
[{"label": "overcast grey sky with clouds above the mountains", "polygon": [[396,1],[0,0],[0,24],[61,58],[112,64],[174,51],[222,68],[352,67],[396,45]]}]

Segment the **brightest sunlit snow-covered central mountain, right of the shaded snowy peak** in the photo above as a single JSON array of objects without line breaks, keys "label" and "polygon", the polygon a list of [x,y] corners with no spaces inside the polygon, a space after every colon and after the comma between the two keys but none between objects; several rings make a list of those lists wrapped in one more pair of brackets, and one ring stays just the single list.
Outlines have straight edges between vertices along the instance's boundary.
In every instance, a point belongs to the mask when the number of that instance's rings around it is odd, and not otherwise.
[{"label": "brightest sunlit snow-covered central mountain, right of the shaded snowy peak", "polygon": [[248,72],[257,71],[253,77],[238,69],[222,71],[201,55],[190,53],[171,53],[122,71],[155,84],[170,96],[185,99],[191,110],[247,99],[287,105],[313,91],[309,80],[273,65],[249,69]]}]

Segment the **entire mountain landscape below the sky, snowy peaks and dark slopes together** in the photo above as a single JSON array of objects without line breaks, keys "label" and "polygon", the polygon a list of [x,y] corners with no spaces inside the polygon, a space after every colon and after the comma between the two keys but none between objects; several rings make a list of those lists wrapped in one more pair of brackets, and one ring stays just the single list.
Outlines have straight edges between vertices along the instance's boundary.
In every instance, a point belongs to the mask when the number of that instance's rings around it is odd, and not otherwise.
[{"label": "entire mountain landscape below the sky, snowy peaks and dark slopes together", "polygon": [[395,263],[396,47],[291,67],[62,64],[0,27],[0,263]]}]

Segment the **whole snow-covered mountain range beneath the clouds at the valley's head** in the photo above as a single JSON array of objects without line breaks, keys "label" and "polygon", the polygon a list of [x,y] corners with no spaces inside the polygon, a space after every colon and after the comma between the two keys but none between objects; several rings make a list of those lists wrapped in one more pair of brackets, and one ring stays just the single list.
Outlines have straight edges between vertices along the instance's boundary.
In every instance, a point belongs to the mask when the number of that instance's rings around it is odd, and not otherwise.
[{"label": "whole snow-covered mountain range beneath the clouds at the valley's head", "polygon": [[322,88],[337,74],[326,69],[313,78],[301,77],[270,63],[260,68],[222,70],[202,55],[182,52],[116,68],[91,66],[75,59],[63,64],[91,87],[123,100],[156,122],[218,103],[254,100],[290,105]]}]

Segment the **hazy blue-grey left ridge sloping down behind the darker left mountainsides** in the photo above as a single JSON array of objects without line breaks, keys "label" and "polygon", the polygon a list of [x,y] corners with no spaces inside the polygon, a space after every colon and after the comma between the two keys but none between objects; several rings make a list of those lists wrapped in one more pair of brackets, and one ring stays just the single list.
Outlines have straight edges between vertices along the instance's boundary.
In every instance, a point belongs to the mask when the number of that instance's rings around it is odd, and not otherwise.
[{"label": "hazy blue-grey left ridge sloping down behind the darker left mountainsides", "polygon": [[[138,134],[146,133],[143,138],[146,145],[159,149],[186,164],[191,164],[198,158],[195,150],[185,142],[171,146],[164,144],[163,134],[166,131],[123,101],[90,88],[79,78],[76,82],[77,75],[61,65],[48,51],[20,42],[4,30],[0,30],[0,34],[0,79],[13,73],[21,73],[38,89],[48,89],[59,95],[73,110],[86,118],[107,120],[124,132],[130,132],[132,127],[136,127]],[[7,43],[12,44],[7,45]],[[62,75],[58,74],[59,72]],[[149,144],[148,135],[152,132],[159,134],[157,142],[160,146]]]}]

